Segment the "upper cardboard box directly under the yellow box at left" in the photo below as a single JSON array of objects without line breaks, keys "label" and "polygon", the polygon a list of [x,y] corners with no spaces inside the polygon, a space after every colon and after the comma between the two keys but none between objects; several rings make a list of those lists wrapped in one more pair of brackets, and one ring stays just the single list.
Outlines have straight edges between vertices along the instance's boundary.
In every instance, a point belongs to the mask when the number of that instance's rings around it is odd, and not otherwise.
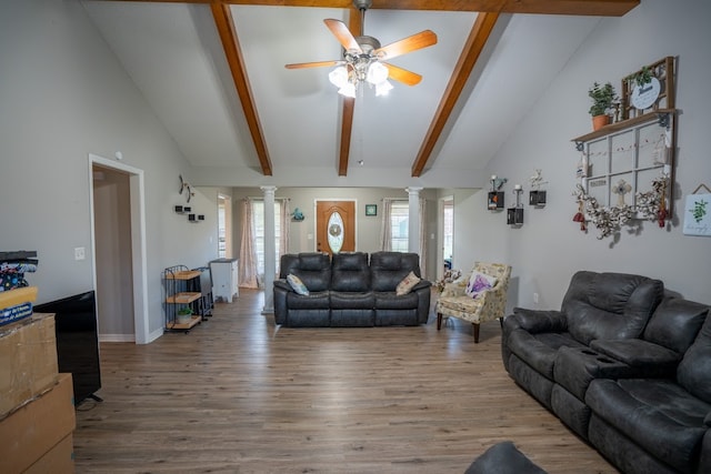
[{"label": "upper cardboard box directly under the yellow box at left", "polygon": [[57,383],[53,314],[0,327],[0,420]]}]

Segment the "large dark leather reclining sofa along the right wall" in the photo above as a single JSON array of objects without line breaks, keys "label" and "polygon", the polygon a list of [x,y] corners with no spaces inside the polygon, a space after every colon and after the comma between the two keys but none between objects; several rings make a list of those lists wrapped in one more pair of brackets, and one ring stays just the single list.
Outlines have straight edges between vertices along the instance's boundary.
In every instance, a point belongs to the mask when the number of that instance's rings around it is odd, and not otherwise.
[{"label": "large dark leather reclining sofa along the right wall", "polygon": [[512,379],[625,473],[711,472],[709,306],[578,272],[560,311],[502,321]]}]

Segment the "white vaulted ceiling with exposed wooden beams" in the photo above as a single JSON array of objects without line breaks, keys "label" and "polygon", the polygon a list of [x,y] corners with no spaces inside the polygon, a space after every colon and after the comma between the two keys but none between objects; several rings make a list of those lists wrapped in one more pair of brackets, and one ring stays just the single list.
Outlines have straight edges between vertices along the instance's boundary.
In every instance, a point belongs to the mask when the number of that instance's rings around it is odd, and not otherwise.
[{"label": "white vaulted ceiling with exposed wooden beams", "polygon": [[[203,185],[473,186],[517,122],[594,28],[639,0],[83,1]],[[423,77],[344,99],[323,19],[388,44]],[[364,23],[361,22],[364,18]]]}]

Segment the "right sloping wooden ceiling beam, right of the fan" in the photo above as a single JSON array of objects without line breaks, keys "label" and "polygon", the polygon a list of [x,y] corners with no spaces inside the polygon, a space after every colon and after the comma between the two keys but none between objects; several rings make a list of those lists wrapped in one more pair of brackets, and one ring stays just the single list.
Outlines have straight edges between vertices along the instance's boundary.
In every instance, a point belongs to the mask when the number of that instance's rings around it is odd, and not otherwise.
[{"label": "right sloping wooden ceiling beam, right of the fan", "polygon": [[474,64],[487,44],[498,19],[498,13],[479,13],[477,16],[474,26],[469,33],[469,38],[467,38],[462,53],[459,57],[454,71],[447,84],[444,94],[437,108],[437,112],[434,112],[434,118],[432,119],[430,128],[424,135],[424,141],[422,142],[420,151],[412,164],[413,178],[422,175],[422,171],[432,155],[432,150],[434,150],[434,145],[442,134],[442,130],[444,130],[444,125],[452,114],[452,110],[454,109],[454,105],[469,80],[471,71],[474,69]]}]

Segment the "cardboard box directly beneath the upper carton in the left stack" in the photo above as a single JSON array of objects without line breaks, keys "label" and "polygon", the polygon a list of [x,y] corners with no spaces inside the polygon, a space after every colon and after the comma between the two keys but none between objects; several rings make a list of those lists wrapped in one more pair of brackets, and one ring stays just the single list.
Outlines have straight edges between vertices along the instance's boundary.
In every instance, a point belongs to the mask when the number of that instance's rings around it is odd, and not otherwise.
[{"label": "cardboard box directly beneath the upper carton in the left stack", "polygon": [[73,399],[71,374],[59,374],[57,385],[0,422],[3,473],[26,471],[74,431]]}]

